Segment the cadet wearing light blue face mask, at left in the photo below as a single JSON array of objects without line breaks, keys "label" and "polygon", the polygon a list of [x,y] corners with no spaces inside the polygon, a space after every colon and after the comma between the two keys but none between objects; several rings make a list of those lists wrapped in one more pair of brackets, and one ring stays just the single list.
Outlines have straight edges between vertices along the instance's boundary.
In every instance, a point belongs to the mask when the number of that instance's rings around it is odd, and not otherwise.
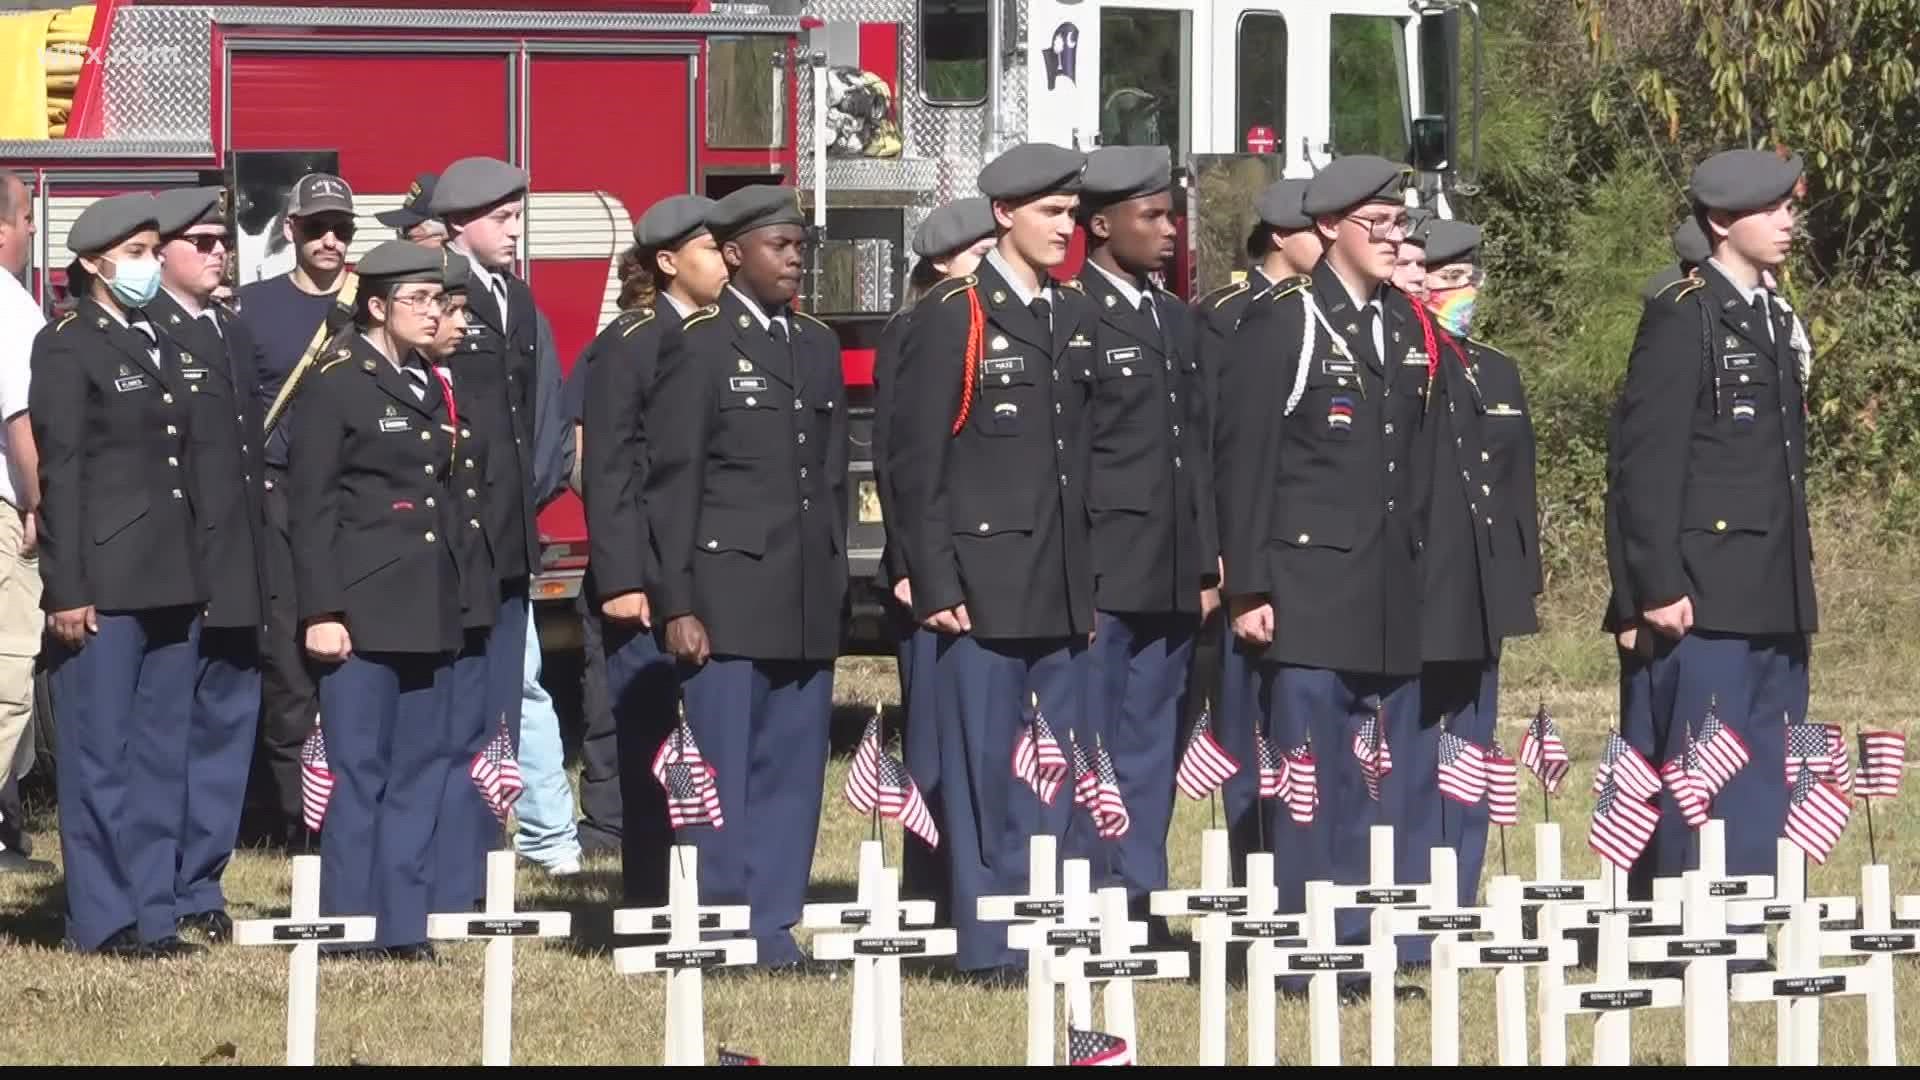
[{"label": "cadet wearing light blue face mask, at left", "polygon": [[60,740],[67,940],[204,951],[175,932],[200,609],[180,354],[142,307],[159,288],[148,194],[88,206],[67,234],[79,306],[33,342],[40,605]]}]

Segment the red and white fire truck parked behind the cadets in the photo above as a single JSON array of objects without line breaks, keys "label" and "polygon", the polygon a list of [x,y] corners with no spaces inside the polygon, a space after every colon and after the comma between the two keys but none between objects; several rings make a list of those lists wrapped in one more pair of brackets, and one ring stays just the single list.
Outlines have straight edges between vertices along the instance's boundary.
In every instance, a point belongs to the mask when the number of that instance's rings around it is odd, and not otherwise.
[{"label": "red and white fire truck parked behind the cadets", "polygon": [[[1167,284],[1181,294],[1236,273],[1258,186],[1332,154],[1407,160],[1442,213],[1471,194],[1452,123],[1469,100],[1455,58],[1471,0],[806,4],[100,0],[60,136],[0,138],[0,165],[36,200],[29,284],[50,311],[63,304],[65,233],[119,190],[227,184],[244,282],[290,267],[275,248],[301,173],[336,171],[355,188],[359,258],[392,236],[372,215],[417,173],[492,154],[532,175],[520,271],[572,365],[616,313],[618,256],[649,204],[793,183],[822,227],[804,306],[839,331],[860,405],[906,238],[1016,142],[1169,146],[1187,246]],[[852,651],[887,648],[868,588],[879,557],[868,425],[856,409]],[[541,634],[568,648],[580,502],[561,496],[540,530]]]}]

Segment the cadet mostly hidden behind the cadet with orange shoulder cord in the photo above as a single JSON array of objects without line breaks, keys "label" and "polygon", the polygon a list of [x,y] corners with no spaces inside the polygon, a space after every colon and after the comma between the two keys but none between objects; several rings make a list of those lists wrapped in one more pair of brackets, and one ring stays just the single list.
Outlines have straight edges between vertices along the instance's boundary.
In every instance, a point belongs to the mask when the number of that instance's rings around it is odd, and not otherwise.
[{"label": "cadet mostly hidden behind the cadet with orange shoulder cord", "polygon": [[[993,204],[985,198],[962,198],[937,208],[914,229],[914,271],[906,281],[906,304],[887,319],[874,356],[874,484],[879,488],[879,521],[885,548],[879,555],[881,588],[893,598],[891,628],[899,638],[895,659],[900,675],[900,711],[904,713],[902,742],[906,771],[927,801],[927,813],[939,828],[941,815],[941,732],[933,686],[933,655],[939,634],[914,619],[914,584],[906,565],[906,536],[895,515],[899,498],[893,492],[893,471],[887,469],[887,425],[899,411],[895,388],[906,363],[906,334],[912,329],[914,306],[925,300],[937,284],[972,275],[995,242]],[[914,673],[924,675],[916,680]],[[918,711],[916,711],[918,705]],[[918,717],[918,721],[914,719]],[[933,899],[939,919],[947,920],[947,859],[922,844],[908,844],[900,855],[902,896]]]}]

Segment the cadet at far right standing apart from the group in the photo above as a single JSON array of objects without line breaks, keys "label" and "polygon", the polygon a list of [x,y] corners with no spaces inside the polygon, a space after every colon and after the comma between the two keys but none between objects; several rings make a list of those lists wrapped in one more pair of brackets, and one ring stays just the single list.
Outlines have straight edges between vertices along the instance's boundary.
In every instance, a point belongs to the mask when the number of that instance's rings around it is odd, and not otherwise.
[{"label": "cadet at far right standing apart from the group", "polygon": [[[1686,751],[1709,703],[1751,761],[1713,799],[1726,869],[1768,872],[1786,822],[1786,721],[1807,713],[1818,628],[1807,525],[1805,338],[1763,286],[1793,244],[1799,158],[1728,150],[1692,177],[1713,252],[1697,279],[1647,302],[1609,454],[1617,515],[1613,626],[1622,675],[1649,707],[1626,740],[1661,765]],[[1634,886],[1692,865],[1670,792]]]}]

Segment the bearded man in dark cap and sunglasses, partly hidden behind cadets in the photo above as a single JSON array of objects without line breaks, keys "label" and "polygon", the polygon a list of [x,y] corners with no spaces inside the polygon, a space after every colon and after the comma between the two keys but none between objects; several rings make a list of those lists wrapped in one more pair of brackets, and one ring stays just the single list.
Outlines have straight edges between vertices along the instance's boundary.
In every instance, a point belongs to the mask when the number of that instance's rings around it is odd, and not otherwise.
[{"label": "bearded man in dark cap and sunglasses, partly hidden behind cadets", "polygon": [[[240,288],[238,323],[253,342],[255,398],[265,427],[265,515],[261,532],[267,565],[267,619],[261,648],[259,753],[271,780],[276,836],[300,842],[301,824],[300,748],[319,717],[319,692],[307,671],[294,596],[294,552],[286,523],[286,452],[294,369],[309,348],[348,325],[351,311],[338,304],[346,284],[348,246],[353,244],[353,190],[328,173],[309,173],[294,184],[286,208],[286,240],[294,269]],[[303,371],[300,379],[305,379]],[[278,409],[273,405],[278,404]]]}]

